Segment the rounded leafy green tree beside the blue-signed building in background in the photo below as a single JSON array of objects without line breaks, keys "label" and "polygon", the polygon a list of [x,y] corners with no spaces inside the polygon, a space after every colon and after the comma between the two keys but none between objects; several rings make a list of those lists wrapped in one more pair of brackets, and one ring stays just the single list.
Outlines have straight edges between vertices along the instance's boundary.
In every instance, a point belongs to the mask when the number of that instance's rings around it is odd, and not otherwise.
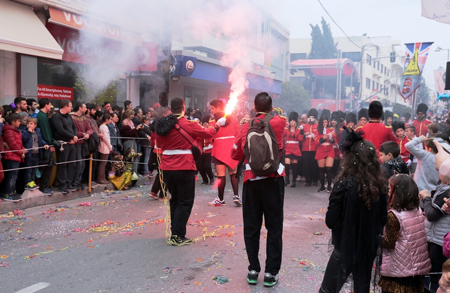
[{"label": "rounded leafy green tree beside the blue-signed building in background", "polygon": [[311,107],[311,97],[297,82],[281,83],[281,95],[273,101],[273,107],[280,107],[284,112],[296,111],[299,114]]}]

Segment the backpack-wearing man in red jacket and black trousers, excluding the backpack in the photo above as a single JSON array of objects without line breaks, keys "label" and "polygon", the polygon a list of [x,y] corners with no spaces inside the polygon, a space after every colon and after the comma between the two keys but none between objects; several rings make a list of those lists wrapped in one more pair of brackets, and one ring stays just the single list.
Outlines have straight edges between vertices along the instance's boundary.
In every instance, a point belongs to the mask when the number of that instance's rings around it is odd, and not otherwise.
[{"label": "backpack-wearing man in red jacket and black trousers, excluding the backpack", "polygon": [[[259,93],[255,97],[253,107],[258,118],[264,118],[272,111],[272,98],[268,93]],[[274,116],[269,121],[273,133],[277,138],[278,147],[283,149],[283,131],[286,119]],[[244,147],[249,124],[242,126],[239,135],[234,141],[231,157],[241,160],[244,156]],[[242,213],[244,219],[244,241],[247,250],[248,266],[247,282],[256,284],[261,265],[258,258],[260,246],[261,225],[267,229],[266,266],[264,285],[273,286],[278,282],[278,272],[281,267],[283,251],[283,203],[284,203],[284,171],[273,173],[267,177],[257,177],[251,172],[250,165],[245,159],[246,171],[242,187]],[[317,165],[317,164],[316,164]],[[282,166],[282,165],[281,165]],[[274,179],[275,178],[275,179]]]}]

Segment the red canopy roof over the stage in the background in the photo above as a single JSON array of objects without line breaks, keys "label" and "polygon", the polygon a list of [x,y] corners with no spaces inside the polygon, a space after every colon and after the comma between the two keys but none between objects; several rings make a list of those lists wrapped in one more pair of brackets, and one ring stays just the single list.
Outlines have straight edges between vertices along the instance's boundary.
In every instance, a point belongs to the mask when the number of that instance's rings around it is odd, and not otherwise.
[{"label": "red canopy roof over the stage in the background", "polygon": [[[349,76],[355,67],[353,61],[347,58],[338,59],[299,59],[290,62],[291,69],[310,69],[316,76],[336,76],[338,62],[342,67],[342,74]],[[357,74],[357,70],[353,70]]]}]

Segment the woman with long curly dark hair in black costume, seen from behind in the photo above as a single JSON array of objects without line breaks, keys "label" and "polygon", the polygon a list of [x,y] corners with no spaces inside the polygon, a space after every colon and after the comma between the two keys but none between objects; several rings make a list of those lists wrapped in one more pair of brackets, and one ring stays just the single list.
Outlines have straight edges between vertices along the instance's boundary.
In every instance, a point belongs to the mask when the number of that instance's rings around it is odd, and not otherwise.
[{"label": "woman with long curly dark hair in black costume, seen from behind", "polygon": [[349,290],[368,293],[374,261],[376,277],[381,267],[379,248],[387,221],[386,180],[374,144],[353,130],[346,138],[342,162],[346,168],[336,177],[325,216],[334,250],[319,293],[339,292],[348,282],[353,282]]}]

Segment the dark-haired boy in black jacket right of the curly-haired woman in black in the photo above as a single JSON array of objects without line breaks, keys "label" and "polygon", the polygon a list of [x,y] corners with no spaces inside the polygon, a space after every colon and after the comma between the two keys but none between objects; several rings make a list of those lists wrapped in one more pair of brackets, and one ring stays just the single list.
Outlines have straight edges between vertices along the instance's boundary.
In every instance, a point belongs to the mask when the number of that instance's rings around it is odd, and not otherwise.
[{"label": "dark-haired boy in black jacket right of the curly-haired woman in black", "polygon": [[408,166],[400,157],[400,147],[396,142],[384,142],[379,151],[386,178],[393,176],[394,171],[399,174],[409,174]]}]

